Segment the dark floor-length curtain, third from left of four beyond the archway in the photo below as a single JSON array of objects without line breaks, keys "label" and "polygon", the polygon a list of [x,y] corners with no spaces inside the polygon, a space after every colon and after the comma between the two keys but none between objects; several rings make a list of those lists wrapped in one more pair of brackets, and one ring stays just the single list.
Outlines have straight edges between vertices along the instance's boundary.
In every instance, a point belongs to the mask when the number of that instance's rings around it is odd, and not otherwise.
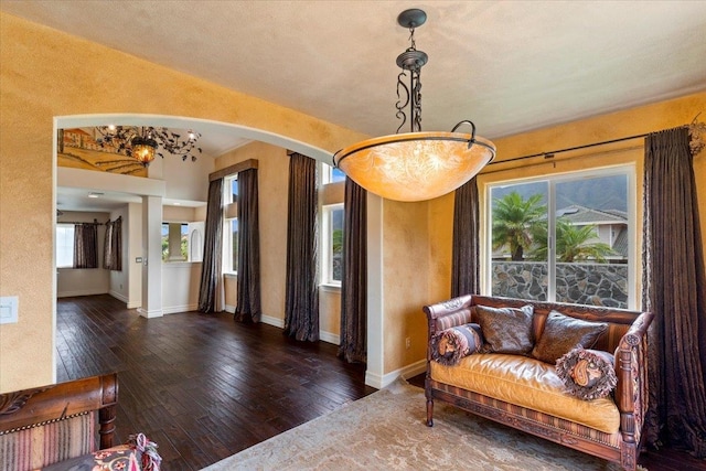
[{"label": "dark floor-length curtain, third from left of four beyond the archway", "polygon": [[318,192],[317,161],[292,153],[289,158],[285,334],[310,342],[319,340]]}]

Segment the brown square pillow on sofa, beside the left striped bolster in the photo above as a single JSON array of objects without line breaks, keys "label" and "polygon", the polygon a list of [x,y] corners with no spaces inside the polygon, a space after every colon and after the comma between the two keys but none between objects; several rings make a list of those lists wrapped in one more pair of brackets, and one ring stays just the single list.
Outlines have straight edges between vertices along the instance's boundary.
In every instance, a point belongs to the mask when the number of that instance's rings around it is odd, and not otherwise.
[{"label": "brown square pillow on sofa, beside the left striped bolster", "polygon": [[522,308],[475,306],[475,317],[483,332],[483,353],[526,355],[534,346],[531,304]]}]

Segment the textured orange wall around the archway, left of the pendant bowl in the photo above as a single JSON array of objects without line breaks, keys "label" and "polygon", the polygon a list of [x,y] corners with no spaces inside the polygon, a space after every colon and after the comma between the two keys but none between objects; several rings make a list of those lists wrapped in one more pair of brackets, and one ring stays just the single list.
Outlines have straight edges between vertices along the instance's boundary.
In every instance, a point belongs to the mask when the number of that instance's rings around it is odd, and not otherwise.
[{"label": "textured orange wall around the archway, left of the pendant bowl", "polygon": [[322,120],[0,13],[0,392],[54,377],[53,118],[86,114],[202,118],[334,152],[365,138]]}]

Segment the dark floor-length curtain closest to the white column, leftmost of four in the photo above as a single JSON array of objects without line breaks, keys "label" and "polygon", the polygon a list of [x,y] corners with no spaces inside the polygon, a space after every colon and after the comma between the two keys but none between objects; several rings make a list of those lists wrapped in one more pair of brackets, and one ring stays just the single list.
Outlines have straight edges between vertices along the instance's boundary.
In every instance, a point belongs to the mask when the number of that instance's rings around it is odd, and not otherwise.
[{"label": "dark floor-length curtain closest to the white column, leftmost of four", "polygon": [[208,183],[206,224],[204,228],[204,250],[199,287],[199,311],[221,312],[225,300],[223,290],[222,255],[223,246],[223,179]]}]

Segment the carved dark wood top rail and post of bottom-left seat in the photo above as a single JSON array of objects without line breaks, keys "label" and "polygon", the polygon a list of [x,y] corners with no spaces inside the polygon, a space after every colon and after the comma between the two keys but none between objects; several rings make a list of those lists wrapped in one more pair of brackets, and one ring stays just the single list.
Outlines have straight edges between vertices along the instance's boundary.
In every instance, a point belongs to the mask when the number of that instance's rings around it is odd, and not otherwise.
[{"label": "carved dark wood top rail and post of bottom-left seat", "polygon": [[98,410],[100,449],[113,447],[117,373],[0,394],[0,430],[14,430]]}]

